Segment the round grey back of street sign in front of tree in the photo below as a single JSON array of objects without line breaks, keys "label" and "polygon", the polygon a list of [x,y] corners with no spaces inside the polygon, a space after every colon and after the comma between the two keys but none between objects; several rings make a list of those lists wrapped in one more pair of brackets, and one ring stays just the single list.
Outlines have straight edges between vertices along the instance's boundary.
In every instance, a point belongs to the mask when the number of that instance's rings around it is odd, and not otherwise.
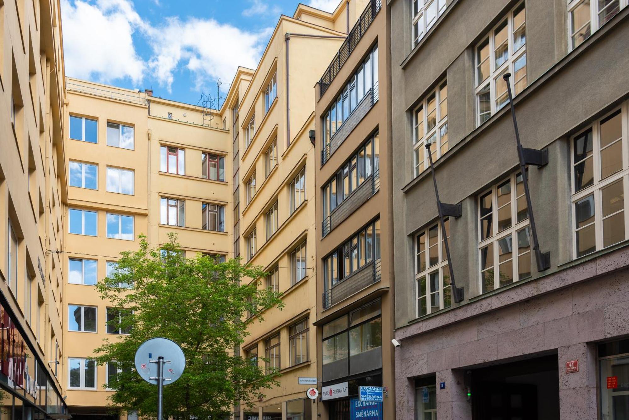
[{"label": "round grey back of street sign in front of tree", "polygon": [[172,384],[181,377],[186,368],[186,356],[181,347],[164,337],[150,338],[138,347],[135,352],[135,370],[149,384],[159,385],[158,362],[164,358],[164,385]]}]

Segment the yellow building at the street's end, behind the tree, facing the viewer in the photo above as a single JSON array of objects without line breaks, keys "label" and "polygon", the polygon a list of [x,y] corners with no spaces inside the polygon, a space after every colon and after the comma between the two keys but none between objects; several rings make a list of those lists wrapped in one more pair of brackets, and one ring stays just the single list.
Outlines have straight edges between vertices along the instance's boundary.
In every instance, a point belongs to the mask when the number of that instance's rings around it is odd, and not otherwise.
[{"label": "yellow building at the street's end, behind the tree, facing the viewer", "polygon": [[125,334],[108,325],[120,309],[94,284],[121,251],[138,248],[140,234],[160,246],[174,232],[187,257],[230,255],[231,140],[220,114],[203,106],[77,79],[66,86],[63,376],[72,415],[93,420],[112,417],[106,384],[117,368],[89,357]]}]

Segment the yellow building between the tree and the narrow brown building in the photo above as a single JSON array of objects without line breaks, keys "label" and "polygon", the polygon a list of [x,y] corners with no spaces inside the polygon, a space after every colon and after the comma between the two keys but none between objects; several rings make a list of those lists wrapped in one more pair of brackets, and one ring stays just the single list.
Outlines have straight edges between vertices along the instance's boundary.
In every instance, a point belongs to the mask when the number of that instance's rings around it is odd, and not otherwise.
[{"label": "yellow building between the tree and the narrow brown building", "polygon": [[[315,274],[315,93],[364,1],[342,1],[333,13],[299,4],[281,16],[255,70],[239,69],[226,97],[233,127],[235,255],[264,267],[260,287],[283,294],[284,309],[252,313],[242,354],[279,386],[235,419],[317,417],[306,397],[318,387]],[[223,107],[225,108],[225,107]],[[252,280],[253,281],[253,280]]]}]

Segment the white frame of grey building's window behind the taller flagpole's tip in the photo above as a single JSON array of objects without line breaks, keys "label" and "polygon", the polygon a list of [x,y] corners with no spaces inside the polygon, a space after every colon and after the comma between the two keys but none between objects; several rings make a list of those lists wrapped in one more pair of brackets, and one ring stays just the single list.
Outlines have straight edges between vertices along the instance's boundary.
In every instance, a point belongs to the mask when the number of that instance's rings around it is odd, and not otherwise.
[{"label": "white frame of grey building's window behind the taller flagpole's tip", "polygon": [[[523,11],[525,14],[525,21],[523,23],[523,25],[525,26],[525,42],[520,46],[520,48],[518,48],[517,51],[514,51],[513,31],[519,29],[521,26],[518,26],[518,28],[514,28],[513,12],[516,9],[520,8],[521,6],[524,6]],[[499,65],[499,67],[496,67],[496,57],[494,55],[496,46],[494,45],[494,38],[496,35],[496,29],[498,29],[499,26],[503,25],[505,21],[507,23],[507,26],[506,26],[507,45],[508,45],[507,59],[504,61],[504,63]],[[480,47],[484,45],[484,43],[486,43],[487,41],[489,42],[489,55],[487,56],[486,60],[489,60],[489,75],[487,75],[487,77],[484,80],[479,80],[479,67],[481,65],[481,63],[478,62],[479,50],[481,50]],[[509,79],[509,83],[511,84],[511,91],[513,92],[513,96],[515,97],[518,95],[518,93],[520,93],[519,91],[516,90],[516,83],[519,80],[515,80],[515,77],[516,77],[515,62],[517,62],[520,58],[526,55],[526,42],[527,42],[526,40],[526,4],[524,1],[521,1],[520,3],[516,4],[511,10],[509,10],[508,13],[506,13],[506,16],[500,19],[500,21],[498,22],[498,24],[496,24],[496,26],[491,28],[491,30],[488,31],[487,35],[484,36],[482,40],[474,48],[474,80],[476,82],[476,88],[474,89],[474,96],[475,96],[475,101],[476,101],[476,113],[475,113],[476,126],[480,126],[482,123],[487,121],[487,119],[491,118],[493,114],[495,114],[500,109],[507,106],[507,104],[509,103],[509,100],[507,97],[505,99],[505,102],[503,102],[503,104],[500,106],[500,108],[496,107],[496,89],[497,89],[496,84],[504,83],[504,80],[502,78],[502,75],[504,73],[506,72],[511,73],[511,78]],[[528,77],[528,64],[526,60],[528,60],[528,57],[525,58],[525,69],[526,69],[525,75],[521,79]],[[488,114],[484,113],[484,114],[487,114],[487,118],[484,120],[481,120],[480,97],[484,89],[487,88],[487,86],[489,86],[489,102],[490,102],[489,113]],[[528,86],[528,79],[525,86],[522,87],[522,89],[525,89],[526,86]],[[506,87],[505,87],[504,95],[506,95]]]}]

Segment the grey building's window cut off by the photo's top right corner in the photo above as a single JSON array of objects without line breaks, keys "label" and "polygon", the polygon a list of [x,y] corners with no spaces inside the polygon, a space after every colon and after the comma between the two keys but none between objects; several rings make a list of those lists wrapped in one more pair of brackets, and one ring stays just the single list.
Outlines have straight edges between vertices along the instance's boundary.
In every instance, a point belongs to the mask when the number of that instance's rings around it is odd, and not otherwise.
[{"label": "grey building's window cut off by the photo's top right corner", "polygon": [[581,45],[627,3],[627,0],[568,0],[569,47]]}]

